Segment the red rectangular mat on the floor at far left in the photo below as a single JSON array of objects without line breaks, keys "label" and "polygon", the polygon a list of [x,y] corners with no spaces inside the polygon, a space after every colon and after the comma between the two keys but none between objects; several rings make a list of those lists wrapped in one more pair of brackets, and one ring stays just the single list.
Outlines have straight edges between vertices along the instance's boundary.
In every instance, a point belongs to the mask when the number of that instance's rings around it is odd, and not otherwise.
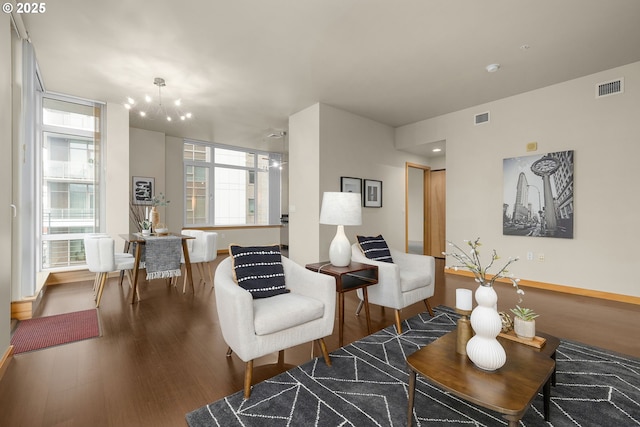
[{"label": "red rectangular mat on the floor at far left", "polygon": [[96,309],[37,317],[18,323],[11,337],[14,354],[100,336]]}]

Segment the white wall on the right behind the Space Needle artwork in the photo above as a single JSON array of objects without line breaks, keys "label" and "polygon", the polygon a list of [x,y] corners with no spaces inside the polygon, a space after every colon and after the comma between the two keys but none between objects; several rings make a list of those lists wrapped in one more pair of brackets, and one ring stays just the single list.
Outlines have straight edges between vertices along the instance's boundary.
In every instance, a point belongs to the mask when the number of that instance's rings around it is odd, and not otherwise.
[{"label": "white wall on the right behind the Space Needle artwork", "polygon": [[[595,99],[597,83],[619,77],[623,94]],[[446,140],[447,239],[520,255],[511,270],[523,279],[637,297],[639,106],[637,62],[404,126],[396,145]],[[491,121],[474,126],[485,111]],[[536,154],[533,141],[539,154],[575,150],[573,239],[502,235],[502,160]]]}]

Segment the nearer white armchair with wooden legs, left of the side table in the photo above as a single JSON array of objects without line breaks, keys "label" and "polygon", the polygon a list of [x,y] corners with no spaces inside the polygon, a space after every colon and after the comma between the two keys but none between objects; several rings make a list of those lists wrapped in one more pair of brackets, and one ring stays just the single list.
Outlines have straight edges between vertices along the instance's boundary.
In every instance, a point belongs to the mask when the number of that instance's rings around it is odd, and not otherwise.
[{"label": "nearer white armchair with wooden legs, left of the side table", "polygon": [[333,332],[336,308],[335,280],[314,273],[282,257],[289,293],[253,299],[233,280],[231,257],[216,269],[215,295],[222,336],[232,351],[246,362],[244,397],[251,395],[253,360],[309,341],[318,341],[331,365],[323,338]]}]

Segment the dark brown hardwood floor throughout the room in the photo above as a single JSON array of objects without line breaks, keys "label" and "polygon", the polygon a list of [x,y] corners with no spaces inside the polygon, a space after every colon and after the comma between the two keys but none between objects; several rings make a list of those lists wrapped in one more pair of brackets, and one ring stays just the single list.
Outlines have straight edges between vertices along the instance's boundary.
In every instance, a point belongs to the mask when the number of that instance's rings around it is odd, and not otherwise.
[{"label": "dark brown hardwood floor throughout the room", "polygon": [[[220,257],[218,258],[218,260]],[[438,261],[433,307],[455,305],[455,289],[475,288],[472,279],[445,275]],[[125,281],[126,283],[126,281]],[[39,316],[94,306],[92,282],[51,286]],[[142,301],[126,301],[128,285],[111,279],[99,309],[97,339],[15,355],[0,381],[0,426],[184,426],[185,414],[242,388],[244,363],[225,356],[210,283],[195,294],[163,280],[142,283]],[[538,329],[640,357],[640,310],[635,305],[527,289],[526,305],[540,313]],[[515,305],[512,288],[498,286],[499,309]],[[346,294],[345,342],[366,335],[357,299]],[[424,311],[415,304],[403,318]],[[393,324],[392,310],[372,306],[374,330]],[[336,320],[337,328],[337,320]],[[338,346],[337,329],[326,339]],[[286,362],[311,357],[311,344],[285,352]],[[256,362],[273,364],[277,355]],[[317,356],[317,350],[316,350]],[[257,368],[258,379],[275,375]]]}]

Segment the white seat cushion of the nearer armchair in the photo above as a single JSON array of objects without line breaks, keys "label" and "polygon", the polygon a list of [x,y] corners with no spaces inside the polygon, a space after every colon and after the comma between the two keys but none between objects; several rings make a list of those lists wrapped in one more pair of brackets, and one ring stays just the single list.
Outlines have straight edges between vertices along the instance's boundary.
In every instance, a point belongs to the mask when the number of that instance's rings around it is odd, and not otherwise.
[{"label": "white seat cushion of the nearer armchair", "polygon": [[320,319],[324,315],[321,301],[288,293],[253,300],[256,335],[268,335]]}]

